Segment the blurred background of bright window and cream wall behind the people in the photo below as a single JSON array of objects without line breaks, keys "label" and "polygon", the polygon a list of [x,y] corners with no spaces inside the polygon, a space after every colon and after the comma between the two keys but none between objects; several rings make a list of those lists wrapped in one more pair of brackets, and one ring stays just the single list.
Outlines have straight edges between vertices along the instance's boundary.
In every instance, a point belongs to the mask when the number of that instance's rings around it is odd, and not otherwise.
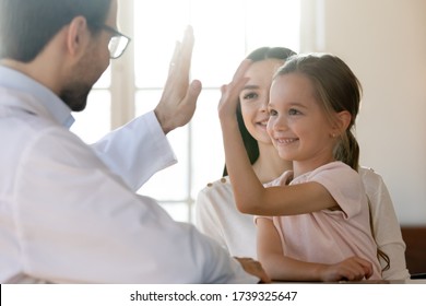
[{"label": "blurred background of bright window and cream wall behind the people", "polygon": [[426,224],[426,1],[424,0],[118,0],[119,30],[132,37],[74,114],[86,142],[152,110],[176,40],[191,24],[191,78],[203,83],[196,115],[168,134],[179,163],[140,193],[178,221],[194,222],[197,193],[221,178],[220,86],[262,46],[341,57],[364,87],[356,134],[362,165],[379,173],[401,225]]}]

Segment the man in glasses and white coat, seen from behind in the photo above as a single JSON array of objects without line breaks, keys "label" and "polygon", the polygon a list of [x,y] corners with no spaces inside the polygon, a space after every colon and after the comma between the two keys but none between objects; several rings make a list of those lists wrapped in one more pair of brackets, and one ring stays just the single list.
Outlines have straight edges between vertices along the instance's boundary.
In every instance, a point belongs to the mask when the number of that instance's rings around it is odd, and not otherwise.
[{"label": "man in glasses and white coat, seen from behind", "polygon": [[191,28],[154,111],[93,148],[69,131],[129,43],[116,15],[117,0],[0,0],[0,282],[268,282],[135,193],[175,163],[165,134],[196,109]]}]

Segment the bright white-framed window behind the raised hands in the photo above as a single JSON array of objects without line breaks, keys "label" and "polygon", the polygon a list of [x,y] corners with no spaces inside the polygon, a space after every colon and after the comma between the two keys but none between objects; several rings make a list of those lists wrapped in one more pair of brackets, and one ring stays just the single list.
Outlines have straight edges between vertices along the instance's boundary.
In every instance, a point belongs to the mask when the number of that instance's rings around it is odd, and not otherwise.
[{"label": "bright white-framed window behind the raised hands", "polygon": [[132,43],[95,84],[87,108],[76,114],[72,130],[94,142],[152,110],[175,42],[191,24],[196,35],[191,78],[202,81],[203,91],[191,122],[167,136],[179,163],[154,175],[139,192],[157,199],[175,220],[193,222],[198,191],[218,179],[224,166],[216,116],[218,89],[258,47],[299,50],[299,5],[296,0],[119,1],[120,31],[131,36]]}]

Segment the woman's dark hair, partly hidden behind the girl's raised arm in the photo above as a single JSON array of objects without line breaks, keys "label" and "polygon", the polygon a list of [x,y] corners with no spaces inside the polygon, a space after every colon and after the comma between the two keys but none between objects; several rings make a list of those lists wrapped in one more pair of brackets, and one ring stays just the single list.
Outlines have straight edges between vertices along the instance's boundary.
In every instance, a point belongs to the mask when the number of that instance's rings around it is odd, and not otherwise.
[{"label": "woman's dark hair, partly hidden behind the girl's raised arm", "polygon": [[[284,47],[261,47],[253,51],[251,51],[246,59],[251,59],[255,61],[262,61],[267,59],[277,59],[285,61],[291,56],[296,55],[295,51],[284,48]],[[242,142],[246,148],[247,155],[250,160],[250,164],[255,164],[255,162],[259,158],[259,144],[258,141],[249,133],[249,131],[246,128],[246,125],[242,120],[242,114],[241,114],[241,106],[240,103],[238,103],[237,108],[237,121],[238,121],[238,128],[239,132],[242,137]],[[226,165],[223,172],[223,176],[227,176],[228,172],[226,169]]]}]

